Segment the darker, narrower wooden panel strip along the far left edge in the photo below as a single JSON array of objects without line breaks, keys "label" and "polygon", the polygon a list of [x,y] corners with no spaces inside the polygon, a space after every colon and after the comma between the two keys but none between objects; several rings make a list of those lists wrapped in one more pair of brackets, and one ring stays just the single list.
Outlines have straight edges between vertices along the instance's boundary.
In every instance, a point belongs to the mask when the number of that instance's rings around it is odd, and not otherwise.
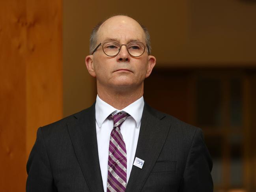
[{"label": "darker, narrower wooden panel strip along the far left edge", "polygon": [[24,2],[0,6],[0,186],[19,191],[26,181],[26,63]]}]

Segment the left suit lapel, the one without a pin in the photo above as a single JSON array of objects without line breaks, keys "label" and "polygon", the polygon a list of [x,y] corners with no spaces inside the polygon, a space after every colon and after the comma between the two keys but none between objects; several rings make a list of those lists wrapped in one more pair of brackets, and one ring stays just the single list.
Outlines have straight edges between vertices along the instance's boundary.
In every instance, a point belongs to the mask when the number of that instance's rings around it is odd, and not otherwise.
[{"label": "left suit lapel, the one without a pin", "polygon": [[67,126],[86,183],[90,192],[103,192],[95,127],[95,103],[74,117],[74,121]]}]

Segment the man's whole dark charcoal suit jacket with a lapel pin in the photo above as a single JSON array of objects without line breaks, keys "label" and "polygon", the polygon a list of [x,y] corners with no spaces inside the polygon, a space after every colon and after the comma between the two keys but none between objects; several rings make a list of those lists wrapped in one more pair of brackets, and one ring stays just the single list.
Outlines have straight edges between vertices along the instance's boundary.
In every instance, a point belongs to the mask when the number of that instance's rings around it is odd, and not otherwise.
[{"label": "man's whole dark charcoal suit jacket with a lapel pin", "polygon": [[[108,144],[106,144],[108,145]],[[202,130],[144,106],[126,192],[212,192]],[[41,127],[27,163],[27,192],[103,192],[95,104]]]}]

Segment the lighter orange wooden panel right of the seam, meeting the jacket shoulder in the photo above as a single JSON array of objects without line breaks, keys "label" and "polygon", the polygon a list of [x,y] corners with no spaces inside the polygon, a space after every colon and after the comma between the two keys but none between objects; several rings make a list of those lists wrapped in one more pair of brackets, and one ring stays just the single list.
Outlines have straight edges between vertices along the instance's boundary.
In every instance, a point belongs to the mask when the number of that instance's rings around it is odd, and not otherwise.
[{"label": "lighter orange wooden panel right of the seam, meeting the jacket shoulder", "polygon": [[62,117],[62,1],[26,2],[28,156],[37,128]]}]

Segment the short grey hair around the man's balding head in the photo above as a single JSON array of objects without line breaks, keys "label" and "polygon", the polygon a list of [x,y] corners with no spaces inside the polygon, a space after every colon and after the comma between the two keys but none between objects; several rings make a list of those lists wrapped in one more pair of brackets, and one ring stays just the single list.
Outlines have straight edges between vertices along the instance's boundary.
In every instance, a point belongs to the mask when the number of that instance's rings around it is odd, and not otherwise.
[{"label": "short grey hair around the man's balding head", "polygon": [[[117,16],[117,15],[114,15],[114,16]],[[114,17],[114,16],[111,16],[111,17]],[[127,16],[127,15],[123,15],[123,16]],[[97,32],[100,28],[100,26],[103,24],[103,22],[107,21],[109,18],[111,17],[108,17],[107,19],[99,22],[92,30],[92,33],[91,33],[91,36],[90,36],[90,54],[92,54],[93,50],[95,49],[95,47],[97,46],[96,43],[97,43]],[[127,16],[128,17],[128,16]],[[136,21],[136,20],[135,20]],[[137,21],[138,22],[138,21]],[[140,22],[138,22],[138,24],[140,24],[140,26],[142,27],[142,29],[144,30],[144,33],[145,33],[145,36],[146,36],[146,43],[148,45],[148,54],[151,53],[151,41],[150,41],[150,35],[149,35],[149,32],[148,32],[148,29],[143,25],[141,24]]]}]

